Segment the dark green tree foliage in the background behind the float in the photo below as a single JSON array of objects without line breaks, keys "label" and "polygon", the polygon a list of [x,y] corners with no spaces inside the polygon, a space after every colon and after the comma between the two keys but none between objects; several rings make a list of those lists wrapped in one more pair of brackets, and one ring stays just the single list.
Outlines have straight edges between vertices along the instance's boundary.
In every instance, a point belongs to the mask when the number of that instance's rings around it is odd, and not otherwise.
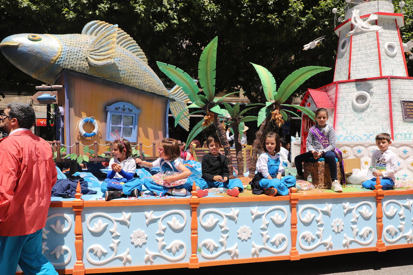
[{"label": "dark green tree foliage in the background behind the float", "polygon": [[[404,42],[412,38],[413,0],[404,0]],[[162,78],[156,60],[173,63],[192,77],[197,73],[199,50],[215,36],[221,50],[216,67],[217,91],[246,91],[254,102],[262,98],[258,76],[249,62],[261,64],[280,83],[304,66],[334,67],[337,36],[334,16],[344,14],[342,0],[2,0],[1,39],[16,33],[80,33],[92,20],[118,24],[144,50],[150,66]],[[396,12],[399,1],[394,1]],[[323,44],[303,51],[314,38]],[[0,55],[1,90],[31,91],[39,84]],[[412,70],[408,66],[410,70]],[[412,72],[413,73],[413,72]],[[332,81],[333,71],[308,81],[320,87]],[[163,78],[166,87],[173,82]],[[297,90],[303,93],[305,87]]]}]

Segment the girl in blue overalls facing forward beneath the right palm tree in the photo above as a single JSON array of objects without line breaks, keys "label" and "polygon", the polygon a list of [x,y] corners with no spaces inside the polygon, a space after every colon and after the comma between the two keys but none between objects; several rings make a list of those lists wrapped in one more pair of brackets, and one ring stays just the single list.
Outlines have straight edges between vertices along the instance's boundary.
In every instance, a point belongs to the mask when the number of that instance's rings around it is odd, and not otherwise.
[{"label": "girl in blue overalls facing forward beneath the right palm tree", "polygon": [[262,153],[257,160],[258,173],[252,179],[252,193],[256,195],[265,194],[288,195],[289,188],[295,187],[295,178],[293,176],[285,176],[281,179],[281,174],[284,172],[280,157],[280,136],[270,132],[260,144]]}]

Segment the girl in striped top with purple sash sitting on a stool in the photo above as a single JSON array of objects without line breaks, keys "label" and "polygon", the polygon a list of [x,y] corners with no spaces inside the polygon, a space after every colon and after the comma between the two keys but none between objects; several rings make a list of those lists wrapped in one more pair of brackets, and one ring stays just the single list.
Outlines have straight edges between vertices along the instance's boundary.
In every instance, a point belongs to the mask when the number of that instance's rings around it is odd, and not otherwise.
[{"label": "girl in striped top with purple sash sitting on a stool", "polygon": [[325,108],[316,110],[316,125],[309,129],[307,136],[308,152],[298,155],[294,158],[295,167],[297,167],[296,179],[304,179],[302,162],[309,160],[318,160],[323,157],[325,163],[328,164],[331,175],[331,190],[335,192],[343,192],[341,184],[337,180],[337,165],[335,158],[342,162],[341,152],[335,147],[336,135],[334,128],[327,124],[328,111]]}]

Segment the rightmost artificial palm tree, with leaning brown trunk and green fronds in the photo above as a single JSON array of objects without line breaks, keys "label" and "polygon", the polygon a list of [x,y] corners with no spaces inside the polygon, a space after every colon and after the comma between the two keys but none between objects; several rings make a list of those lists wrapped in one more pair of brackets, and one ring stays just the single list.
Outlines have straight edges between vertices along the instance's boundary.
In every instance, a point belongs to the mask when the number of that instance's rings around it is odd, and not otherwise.
[{"label": "rightmost artificial palm tree, with leaning brown trunk and green fronds", "polygon": [[285,78],[285,80],[281,83],[280,87],[278,87],[278,90],[276,91],[276,84],[273,75],[263,66],[256,65],[254,63],[251,64],[252,66],[254,66],[255,70],[259,75],[267,102],[266,104],[255,103],[249,105],[263,106],[258,113],[257,123],[259,126],[259,130],[255,134],[255,140],[252,146],[252,157],[251,162],[249,164],[250,178],[254,177],[255,174],[258,146],[261,143],[263,134],[269,129],[271,122],[274,122],[276,126],[281,127],[281,125],[284,124],[285,120],[287,119],[286,112],[296,115],[300,118],[300,116],[296,113],[290,110],[282,109],[282,107],[297,108],[304,114],[308,115],[309,118],[315,120],[316,115],[310,109],[299,105],[290,105],[282,103],[284,103],[291,96],[291,94],[302,83],[304,83],[304,81],[311,78],[311,76],[323,71],[331,70],[331,68],[319,66],[307,66],[299,68],[298,70],[294,71],[289,76],[287,76],[287,78]]}]

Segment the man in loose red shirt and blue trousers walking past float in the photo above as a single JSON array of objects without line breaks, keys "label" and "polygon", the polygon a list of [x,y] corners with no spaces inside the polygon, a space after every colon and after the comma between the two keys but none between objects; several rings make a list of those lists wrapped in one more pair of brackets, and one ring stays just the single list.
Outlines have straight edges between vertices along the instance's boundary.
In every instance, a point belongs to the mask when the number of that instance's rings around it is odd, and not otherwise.
[{"label": "man in loose red shirt and blue trousers walking past float", "polygon": [[42,229],[57,172],[49,143],[29,129],[31,106],[12,102],[0,114],[0,273],[57,274],[42,254]]}]

